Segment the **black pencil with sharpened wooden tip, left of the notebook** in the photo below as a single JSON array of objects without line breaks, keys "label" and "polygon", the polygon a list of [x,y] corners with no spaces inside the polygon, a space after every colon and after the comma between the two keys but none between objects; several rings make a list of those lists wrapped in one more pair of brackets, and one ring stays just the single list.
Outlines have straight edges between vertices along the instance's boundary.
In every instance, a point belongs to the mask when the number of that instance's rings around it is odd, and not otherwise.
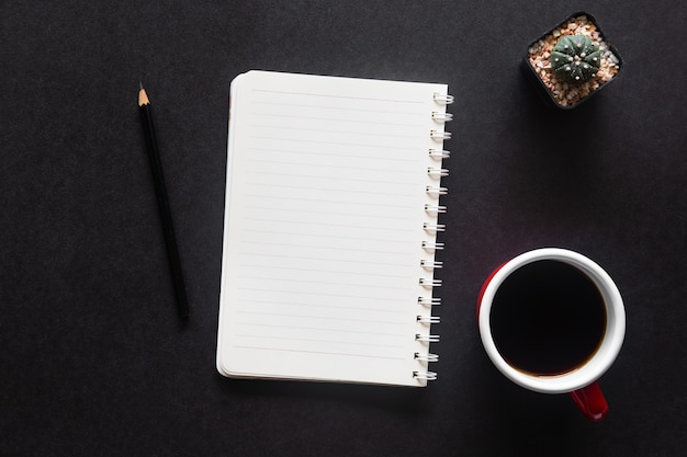
[{"label": "black pencil with sharpened wooden tip, left of the notebook", "polygon": [[169,256],[169,266],[172,274],[174,295],[177,297],[177,309],[179,310],[179,316],[185,319],[189,317],[189,300],[187,298],[187,288],[181,272],[181,261],[179,259],[179,249],[177,248],[177,237],[174,235],[171,210],[169,209],[169,198],[167,197],[167,187],[165,186],[162,163],[160,161],[157,137],[155,136],[155,127],[153,125],[150,101],[143,88],[143,83],[139,83],[139,85],[138,110],[140,112],[140,121],[143,122],[143,132],[146,137],[146,147],[150,159],[150,169],[153,170],[153,181],[155,182],[155,193],[160,209],[162,230],[165,231],[165,244],[167,245],[167,255]]}]

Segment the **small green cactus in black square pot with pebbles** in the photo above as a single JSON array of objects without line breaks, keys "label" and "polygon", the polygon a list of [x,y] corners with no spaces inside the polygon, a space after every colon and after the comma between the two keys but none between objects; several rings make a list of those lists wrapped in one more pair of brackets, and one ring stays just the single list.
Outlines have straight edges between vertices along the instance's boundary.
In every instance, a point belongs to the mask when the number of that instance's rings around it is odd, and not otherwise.
[{"label": "small green cactus in black square pot with pebbles", "polygon": [[572,14],[528,47],[525,67],[548,101],[570,110],[616,80],[617,49],[588,13]]}]

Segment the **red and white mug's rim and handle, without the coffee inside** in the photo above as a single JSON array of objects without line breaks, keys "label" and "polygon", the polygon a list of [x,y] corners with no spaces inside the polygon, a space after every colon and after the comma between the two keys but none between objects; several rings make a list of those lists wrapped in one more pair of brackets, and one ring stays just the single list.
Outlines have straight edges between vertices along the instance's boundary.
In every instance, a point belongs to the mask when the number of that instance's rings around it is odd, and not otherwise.
[{"label": "red and white mug's rim and handle, without the coffee inside", "polygon": [[[499,287],[514,272],[537,261],[556,261],[574,266],[598,289],[606,310],[606,330],[594,354],[570,372],[534,375],[516,368],[497,350],[492,332],[492,305]],[[484,282],[477,298],[477,324],[484,349],[498,370],[515,384],[542,393],[570,393],[577,408],[590,420],[608,413],[608,403],[596,380],[612,365],[626,331],[622,297],[611,277],[594,261],[565,249],[543,248],[520,254],[496,269]]]}]

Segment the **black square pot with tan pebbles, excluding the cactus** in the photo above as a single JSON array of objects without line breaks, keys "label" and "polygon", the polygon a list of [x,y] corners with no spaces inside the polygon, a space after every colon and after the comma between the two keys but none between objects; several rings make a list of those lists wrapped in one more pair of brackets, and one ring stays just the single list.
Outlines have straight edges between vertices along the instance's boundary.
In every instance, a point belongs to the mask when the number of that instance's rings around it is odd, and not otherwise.
[{"label": "black square pot with tan pebbles, excluding the cactus", "polygon": [[[587,35],[598,42],[601,47],[601,67],[597,76],[589,81],[576,83],[559,80],[551,70],[547,53],[551,52],[562,36],[571,34]],[[618,49],[609,43],[596,19],[584,11],[571,14],[565,21],[530,43],[522,59],[522,68],[542,99],[550,106],[560,110],[572,110],[589,100],[610,82],[617,80],[622,67],[623,62]]]}]

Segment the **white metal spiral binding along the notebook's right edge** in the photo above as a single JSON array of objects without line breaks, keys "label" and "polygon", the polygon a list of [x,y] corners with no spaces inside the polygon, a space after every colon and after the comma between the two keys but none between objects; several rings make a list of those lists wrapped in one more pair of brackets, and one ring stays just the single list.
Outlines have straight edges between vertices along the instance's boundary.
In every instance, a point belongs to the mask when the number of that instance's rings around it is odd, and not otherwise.
[{"label": "white metal spiral binding along the notebook's right edge", "polygon": [[[453,103],[453,96],[437,92],[433,94],[433,101],[440,106],[449,105]],[[437,141],[437,144],[442,144],[444,140],[451,139],[451,133],[443,132],[442,124],[451,122],[453,115],[447,113],[444,107],[437,107],[436,111],[432,111],[431,118],[437,124],[437,128],[430,129],[429,137]],[[425,213],[428,216],[428,220],[423,224],[423,229],[431,237],[431,241],[423,241],[421,243],[421,249],[427,252],[427,258],[420,259],[420,267],[428,275],[433,276],[435,270],[443,267],[443,262],[433,259],[433,253],[443,249],[443,243],[437,242],[436,236],[438,232],[446,230],[446,225],[438,224],[437,219],[440,214],[447,212],[447,207],[439,205],[436,201],[449,192],[447,187],[440,185],[441,179],[449,175],[449,170],[441,167],[441,161],[448,159],[451,153],[441,148],[429,148],[427,152],[429,158],[436,162],[436,165],[427,167],[427,176],[429,180],[435,181],[435,183],[427,185],[425,190],[427,196],[435,202],[425,204]],[[438,316],[432,316],[431,313],[431,308],[441,305],[441,298],[432,297],[431,290],[435,287],[441,286],[441,279],[420,277],[419,285],[427,289],[427,294],[420,294],[420,296],[417,297],[418,313],[416,316],[416,322],[418,324],[418,333],[415,334],[415,341],[428,345],[439,341],[439,335],[432,334],[430,328],[441,320]],[[419,365],[419,369],[413,372],[414,378],[420,381],[437,379],[437,374],[427,369],[429,363],[439,359],[437,354],[431,354],[425,349],[423,352],[416,352],[414,358]]]}]

